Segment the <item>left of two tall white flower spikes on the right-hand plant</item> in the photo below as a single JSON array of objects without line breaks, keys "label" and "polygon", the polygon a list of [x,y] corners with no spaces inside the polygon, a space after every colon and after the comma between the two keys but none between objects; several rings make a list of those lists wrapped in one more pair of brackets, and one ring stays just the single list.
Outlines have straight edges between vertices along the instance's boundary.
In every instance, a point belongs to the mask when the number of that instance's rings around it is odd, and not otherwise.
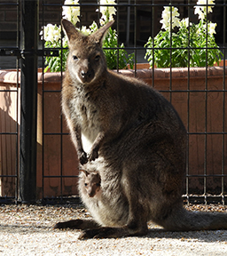
[{"label": "left of two tall white flower spikes on the right-hand plant", "polygon": [[[170,28],[179,27],[179,18],[180,16],[178,9],[176,7],[172,7],[172,11],[170,9],[170,6],[164,6],[164,11],[161,13],[162,20],[160,20],[160,23],[162,23],[162,27],[165,30],[170,30]],[[172,27],[170,26],[172,20]]]}]

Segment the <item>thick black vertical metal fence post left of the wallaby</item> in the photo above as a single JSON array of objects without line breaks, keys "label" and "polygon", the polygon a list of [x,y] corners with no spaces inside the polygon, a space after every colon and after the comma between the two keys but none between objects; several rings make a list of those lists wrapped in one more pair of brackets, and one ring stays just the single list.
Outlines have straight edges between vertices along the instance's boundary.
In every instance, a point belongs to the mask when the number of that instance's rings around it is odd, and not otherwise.
[{"label": "thick black vertical metal fence post left of the wallaby", "polygon": [[19,200],[36,201],[37,40],[39,0],[20,2],[20,186]]}]

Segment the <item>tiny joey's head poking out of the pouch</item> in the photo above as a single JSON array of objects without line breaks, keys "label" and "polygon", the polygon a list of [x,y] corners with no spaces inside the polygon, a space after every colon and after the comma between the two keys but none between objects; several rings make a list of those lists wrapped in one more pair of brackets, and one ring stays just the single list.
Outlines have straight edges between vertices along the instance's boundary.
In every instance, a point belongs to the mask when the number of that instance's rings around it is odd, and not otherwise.
[{"label": "tiny joey's head poking out of the pouch", "polygon": [[80,170],[84,174],[84,187],[90,197],[96,196],[101,189],[101,177],[98,172],[87,172]]}]

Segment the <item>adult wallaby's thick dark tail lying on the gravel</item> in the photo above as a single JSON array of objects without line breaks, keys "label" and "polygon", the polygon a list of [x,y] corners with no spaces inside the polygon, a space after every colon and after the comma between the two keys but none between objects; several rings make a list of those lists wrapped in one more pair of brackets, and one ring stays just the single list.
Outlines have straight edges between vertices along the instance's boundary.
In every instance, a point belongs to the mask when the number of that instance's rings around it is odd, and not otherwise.
[{"label": "adult wallaby's thick dark tail lying on the gravel", "polygon": [[227,212],[188,212],[181,208],[171,212],[162,226],[169,231],[227,229]]}]

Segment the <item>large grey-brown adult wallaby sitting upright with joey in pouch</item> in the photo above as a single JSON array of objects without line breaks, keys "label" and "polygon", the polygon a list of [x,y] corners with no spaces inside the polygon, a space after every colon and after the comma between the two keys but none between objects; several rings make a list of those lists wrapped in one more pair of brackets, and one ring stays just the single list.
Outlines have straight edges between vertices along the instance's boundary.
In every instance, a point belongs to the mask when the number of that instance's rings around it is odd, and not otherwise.
[{"label": "large grey-brown adult wallaby sitting upright with joey in pouch", "polygon": [[62,109],[79,161],[98,171],[102,193],[82,199],[94,220],[55,228],[84,229],[79,238],[143,236],[148,220],[171,231],[227,228],[227,213],[184,209],[184,124],[160,92],[106,68],[102,39],[113,23],[84,36],[62,20],[69,40]]}]

